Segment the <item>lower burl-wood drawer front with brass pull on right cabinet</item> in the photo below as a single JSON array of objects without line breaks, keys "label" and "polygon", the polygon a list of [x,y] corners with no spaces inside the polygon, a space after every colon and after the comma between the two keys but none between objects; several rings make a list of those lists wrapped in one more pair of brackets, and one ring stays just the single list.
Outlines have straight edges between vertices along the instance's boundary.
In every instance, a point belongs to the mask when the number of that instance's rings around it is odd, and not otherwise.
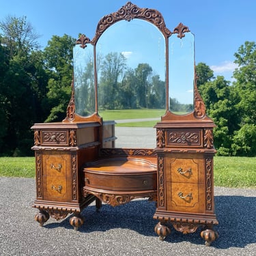
[{"label": "lower burl-wood drawer front with brass pull on right cabinet", "polygon": [[167,208],[172,212],[204,212],[204,191],[203,184],[167,182]]}]

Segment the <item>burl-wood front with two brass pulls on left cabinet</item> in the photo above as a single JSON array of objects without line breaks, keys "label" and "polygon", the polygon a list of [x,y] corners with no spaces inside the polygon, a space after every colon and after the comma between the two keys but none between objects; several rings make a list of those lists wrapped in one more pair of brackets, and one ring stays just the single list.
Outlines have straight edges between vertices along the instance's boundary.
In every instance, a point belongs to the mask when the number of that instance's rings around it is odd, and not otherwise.
[{"label": "burl-wood front with two brass pulls on left cabinet", "polygon": [[44,200],[70,201],[70,161],[70,154],[64,152],[44,152],[42,156]]}]

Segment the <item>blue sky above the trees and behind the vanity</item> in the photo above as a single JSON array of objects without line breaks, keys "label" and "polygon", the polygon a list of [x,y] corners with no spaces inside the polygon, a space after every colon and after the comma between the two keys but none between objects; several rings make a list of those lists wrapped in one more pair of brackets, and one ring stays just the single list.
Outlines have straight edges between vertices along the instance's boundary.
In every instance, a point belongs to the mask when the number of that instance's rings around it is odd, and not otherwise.
[{"label": "blue sky above the trees and behind the vanity", "polygon": [[[117,11],[126,0],[0,0],[0,19],[27,16],[42,47],[53,35],[79,33],[94,37],[98,20]],[[215,75],[230,80],[234,56],[246,40],[256,41],[255,0],[133,0],[139,7],[153,8],[165,17],[173,31],[180,22],[195,34],[196,63],[204,62]]]}]

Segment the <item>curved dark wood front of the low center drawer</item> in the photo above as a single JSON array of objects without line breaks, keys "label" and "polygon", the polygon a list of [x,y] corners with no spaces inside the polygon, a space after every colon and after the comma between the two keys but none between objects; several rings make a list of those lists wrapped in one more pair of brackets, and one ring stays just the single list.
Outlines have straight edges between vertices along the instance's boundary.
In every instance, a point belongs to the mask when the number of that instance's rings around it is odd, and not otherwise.
[{"label": "curved dark wood front of the low center drawer", "polygon": [[156,190],[156,173],[143,175],[108,175],[85,171],[85,186],[102,190]]}]

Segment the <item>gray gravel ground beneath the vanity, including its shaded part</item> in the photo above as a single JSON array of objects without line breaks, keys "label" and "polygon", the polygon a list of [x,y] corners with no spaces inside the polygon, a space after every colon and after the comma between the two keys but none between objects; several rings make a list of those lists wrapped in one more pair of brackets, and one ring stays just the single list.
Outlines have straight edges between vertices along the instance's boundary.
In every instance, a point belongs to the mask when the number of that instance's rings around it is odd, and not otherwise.
[{"label": "gray gravel ground beneath the vanity, including its shaded part", "polygon": [[0,177],[0,255],[256,255],[256,190],[215,188],[219,238],[207,247],[200,232],[172,229],[164,242],[154,233],[154,203],[135,200],[112,208],[94,205],[83,211],[79,231],[62,221],[40,227],[35,180]]}]

